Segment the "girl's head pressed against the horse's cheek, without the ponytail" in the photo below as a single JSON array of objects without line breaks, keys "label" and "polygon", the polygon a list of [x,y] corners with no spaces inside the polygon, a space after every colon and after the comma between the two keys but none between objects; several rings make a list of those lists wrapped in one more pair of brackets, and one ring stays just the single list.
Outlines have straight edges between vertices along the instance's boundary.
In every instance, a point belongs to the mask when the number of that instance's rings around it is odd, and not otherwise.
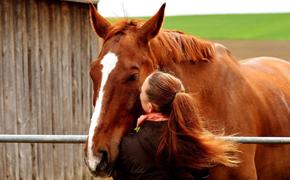
[{"label": "girl's head pressed against the horse's cheek, without the ponytail", "polygon": [[169,115],[172,102],[179,92],[184,92],[184,87],[178,78],[161,71],[153,72],[141,87],[143,110],[147,113],[161,112]]}]

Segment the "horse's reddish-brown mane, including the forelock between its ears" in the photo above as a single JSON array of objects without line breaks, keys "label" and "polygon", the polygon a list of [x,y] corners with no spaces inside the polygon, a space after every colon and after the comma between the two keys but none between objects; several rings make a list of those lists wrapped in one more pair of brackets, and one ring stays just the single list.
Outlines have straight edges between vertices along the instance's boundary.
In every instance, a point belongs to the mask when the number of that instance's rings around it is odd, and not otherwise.
[{"label": "horse's reddish-brown mane, including the forelock between its ears", "polygon": [[[115,23],[107,34],[105,41],[113,36],[124,35],[129,31],[138,31],[144,21],[140,19],[125,19]],[[152,53],[158,61],[173,60],[198,62],[212,61],[215,56],[212,42],[202,40],[181,31],[160,30],[157,37],[149,42]]]}]

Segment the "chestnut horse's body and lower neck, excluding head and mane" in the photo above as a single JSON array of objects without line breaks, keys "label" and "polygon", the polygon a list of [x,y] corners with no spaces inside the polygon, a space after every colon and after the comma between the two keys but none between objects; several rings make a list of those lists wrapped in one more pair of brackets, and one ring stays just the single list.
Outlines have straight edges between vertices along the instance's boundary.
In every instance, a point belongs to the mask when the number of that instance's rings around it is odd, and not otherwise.
[{"label": "chestnut horse's body and lower neck, excluding head and mane", "polygon": [[[224,129],[226,134],[242,136],[290,136],[289,129],[285,128],[290,127],[290,63],[271,57],[237,62],[225,47],[212,46],[215,55],[211,62],[185,61],[162,67],[181,78],[187,90],[199,99],[197,102],[209,129]],[[163,50],[169,51],[168,48]],[[168,56],[161,59],[176,58],[170,52],[160,53],[160,50],[155,56],[160,54]],[[243,168],[225,170],[225,167],[216,167],[210,177],[290,177],[287,171],[290,168],[287,163],[290,160],[289,145],[241,145],[241,150],[247,152],[242,155]],[[269,158],[265,160],[265,157]]]}]

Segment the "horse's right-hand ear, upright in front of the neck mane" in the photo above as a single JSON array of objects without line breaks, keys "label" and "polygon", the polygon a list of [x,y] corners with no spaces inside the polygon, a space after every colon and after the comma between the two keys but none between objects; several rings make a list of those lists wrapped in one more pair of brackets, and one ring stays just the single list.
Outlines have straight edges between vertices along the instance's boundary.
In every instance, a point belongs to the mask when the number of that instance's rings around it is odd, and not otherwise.
[{"label": "horse's right-hand ear, upright in front of the neck mane", "polygon": [[140,38],[146,42],[150,39],[154,38],[158,33],[162,26],[162,22],[164,19],[164,10],[165,10],[166,3],[164,3],[159,11],[151,17],[148,21],[146,21],[140,31]]}]

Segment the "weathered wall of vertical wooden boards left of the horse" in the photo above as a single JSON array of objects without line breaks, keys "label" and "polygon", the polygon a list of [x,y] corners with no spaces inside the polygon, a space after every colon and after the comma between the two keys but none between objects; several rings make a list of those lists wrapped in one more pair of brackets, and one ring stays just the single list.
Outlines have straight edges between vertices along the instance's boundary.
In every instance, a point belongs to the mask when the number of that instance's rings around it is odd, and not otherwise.
[{"label": "weathered wall of vertical wooden boards left of the horse", "polygon": [[[0,1],[0,134],[87,134],[88,5]],[[0,179],[91,179],[83,144],[0,144]]]}]

